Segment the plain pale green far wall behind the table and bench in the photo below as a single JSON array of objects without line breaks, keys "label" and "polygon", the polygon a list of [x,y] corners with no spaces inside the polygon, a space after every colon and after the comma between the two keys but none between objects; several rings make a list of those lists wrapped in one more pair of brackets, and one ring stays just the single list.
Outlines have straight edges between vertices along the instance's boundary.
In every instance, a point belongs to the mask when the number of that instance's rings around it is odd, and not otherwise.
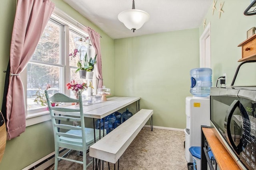
[{"label": "plain pale green far wall behind the table and bench", "polygon": [[196,28],[114,40],[115,95],[141,97],[140,108],[154,110],[154,126],[185,128],[198,39]]}]

